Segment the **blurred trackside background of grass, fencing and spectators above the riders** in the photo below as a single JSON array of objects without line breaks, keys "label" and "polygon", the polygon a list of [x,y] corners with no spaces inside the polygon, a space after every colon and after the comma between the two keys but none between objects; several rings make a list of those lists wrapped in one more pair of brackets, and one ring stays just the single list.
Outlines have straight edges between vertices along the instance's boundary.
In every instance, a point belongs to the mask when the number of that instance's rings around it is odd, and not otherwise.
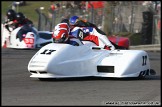
[{"label": "blurred trackside background of grass, fencing and spectators above the riders", "polygon": [[1,1],[1,23],[8,9],[24,13],[40,31],[77,15],[107,36],[128,37],[130,45],[161,44],[161,1]]}]

